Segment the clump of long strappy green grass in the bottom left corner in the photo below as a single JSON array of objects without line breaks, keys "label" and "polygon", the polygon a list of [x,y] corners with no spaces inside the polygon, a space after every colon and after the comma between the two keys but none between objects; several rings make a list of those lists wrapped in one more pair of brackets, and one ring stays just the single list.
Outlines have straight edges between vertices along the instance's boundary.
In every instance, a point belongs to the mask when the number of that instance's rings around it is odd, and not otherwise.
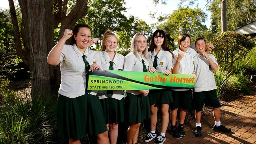
[{"label": "clump of long strappy green grass in the bottom left corner", "polygon": [[[13,94],[12,92],[10,94]],[[55,114],[56,96],[31,101],[31,95],[0,103],[1,144],[59,143]]]}]

